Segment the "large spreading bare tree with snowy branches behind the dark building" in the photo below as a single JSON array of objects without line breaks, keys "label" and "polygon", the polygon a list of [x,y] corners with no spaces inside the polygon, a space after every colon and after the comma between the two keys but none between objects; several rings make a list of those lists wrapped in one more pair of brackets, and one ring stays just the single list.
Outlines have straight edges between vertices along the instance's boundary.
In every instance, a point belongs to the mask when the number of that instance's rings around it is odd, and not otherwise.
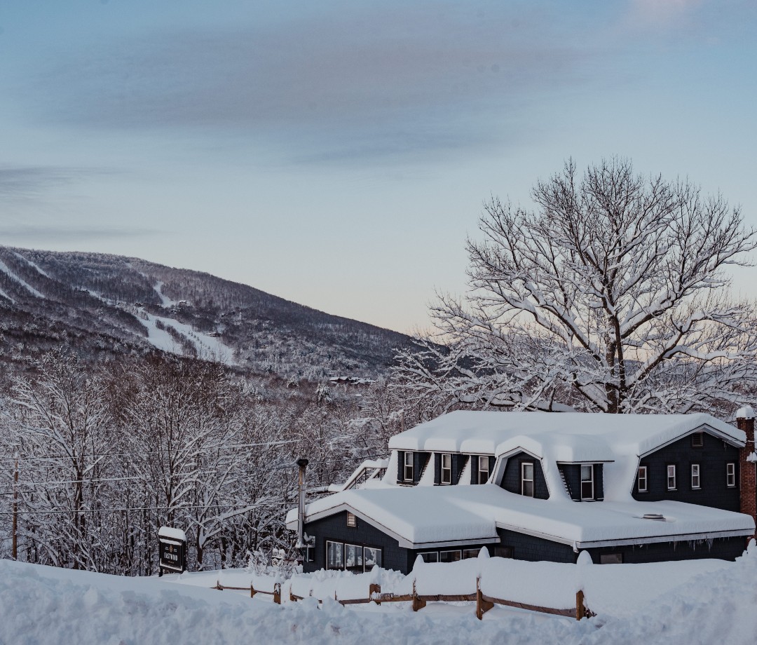
[{"label": "large spreading bare tree with snowy branches behind the dark building", "polygon": [[401,354],[403,388],[444,408],[740,402],[757,382],[755,310],[731,300],[724,273],[757,246],[740,210],[621,159],[582,178],[569,161],[532,194],[535,211],[485,204],[469,293],[433,307],[437,335]]}]

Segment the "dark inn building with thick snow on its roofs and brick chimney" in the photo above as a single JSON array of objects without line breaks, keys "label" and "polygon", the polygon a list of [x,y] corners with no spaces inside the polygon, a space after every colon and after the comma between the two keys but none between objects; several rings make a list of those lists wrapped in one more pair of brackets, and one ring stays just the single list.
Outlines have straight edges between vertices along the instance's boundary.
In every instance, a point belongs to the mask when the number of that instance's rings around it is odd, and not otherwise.
[{"label": "dark inn building with thick snow on its roofs and brick chimney", "polygon": [[[304,506],[304,570],[407,573],[418,555],[734,559],[755,534],[754,416],[453,412]],[[366,479],[367,475],[367,479]],[[357,482],[362,481],[361,484]],[[287,526],[298,528],[292,509]]]}]

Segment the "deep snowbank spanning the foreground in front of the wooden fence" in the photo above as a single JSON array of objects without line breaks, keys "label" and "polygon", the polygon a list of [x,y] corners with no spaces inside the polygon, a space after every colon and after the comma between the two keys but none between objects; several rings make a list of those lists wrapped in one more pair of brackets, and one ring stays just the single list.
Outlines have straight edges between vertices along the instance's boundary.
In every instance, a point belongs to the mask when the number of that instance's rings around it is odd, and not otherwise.
[{"label": "deep snowbank spanning the foreground in front of the wooden fence", "polygon": [[[586,569],[620,572],[631,567]],[[693,575],[678,586],[664,579],[665,568],[657,572],[662,586],[649,589],[650,601],[625,615],[576,622],[495,606],[478,621],[472,603],[429,603],[417,613],[406,603],[343,607],[328,599],[321,605],[307,599],[278,606],[270,597],[251,600],[244,593],[206,587],[218,576],[229,585],[248,580],[245,572],[120,578],[0,561],[0,643],[755,642],[754,547],[735,563],[699,573],[691,569]],[[654,581],[653,569],[645,575]],[[329,578],[333,576],[322,575],[321,581]]]}]

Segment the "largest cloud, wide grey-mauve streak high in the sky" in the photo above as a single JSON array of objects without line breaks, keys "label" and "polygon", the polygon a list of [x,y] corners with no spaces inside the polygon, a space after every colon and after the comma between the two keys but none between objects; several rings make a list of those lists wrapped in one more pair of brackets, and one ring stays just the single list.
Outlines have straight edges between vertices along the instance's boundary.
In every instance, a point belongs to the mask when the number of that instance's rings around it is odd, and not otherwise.
[{"label": "largest cloud, wide grey-mauve streak high in the sky", "polygon": [[350,4],[287,23],[88,44],[58,56],[29,96],[45,120],[226,132],[283,146],[290,159],[478,148],[599,55],[558,14],[505,4]]}]

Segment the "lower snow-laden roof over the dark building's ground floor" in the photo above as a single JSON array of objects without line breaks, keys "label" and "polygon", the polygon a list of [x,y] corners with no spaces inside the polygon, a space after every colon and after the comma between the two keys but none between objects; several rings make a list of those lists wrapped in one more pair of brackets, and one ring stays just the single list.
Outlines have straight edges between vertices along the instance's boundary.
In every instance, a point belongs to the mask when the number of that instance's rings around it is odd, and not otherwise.
[{"label": "lower snow-laden roof over the dark building's ground floor", "polygon": [[[497,528],[575,548],[749,535],[754,521],[741,513],[674,501],[554,503],[510,493],[497,485],[388,487],[344,491],[307,505],[306,521],[347,510],[407,548],[499,541]],[[664,521],[643,519],[648,513]],[[297,511],[288,513],[294,528]]]}]

